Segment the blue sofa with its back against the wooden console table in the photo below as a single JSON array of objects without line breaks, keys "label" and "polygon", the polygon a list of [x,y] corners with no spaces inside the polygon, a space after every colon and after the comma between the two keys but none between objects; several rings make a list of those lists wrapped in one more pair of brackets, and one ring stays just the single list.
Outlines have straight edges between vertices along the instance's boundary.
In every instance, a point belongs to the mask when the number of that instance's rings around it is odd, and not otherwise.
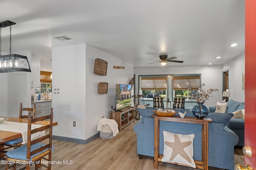
[{"label": "blue sofa with its back against the wooden console table", "polygon": [[[156,109],[138,109],[142,119],[134,125],[134,131],[137,134],[137,153],[140,159],[143,155],[154,157],[154,118],[151,117],[154,114],[153,110]],[[184,109],[175,111],[182,113],[187,111],[185,117],[194,117],[192,111]],[[236,133],[226,126],[232,116],[232,113],[209,113],[207,116],[213,120],[209,123],[208,166],[234,170],[234,146],[239,139]],[[202,160],[202,125],[160,121],[160,154],[163,154],[164,150],[163,131],[183,135],[194,134],[193,159]]]}]

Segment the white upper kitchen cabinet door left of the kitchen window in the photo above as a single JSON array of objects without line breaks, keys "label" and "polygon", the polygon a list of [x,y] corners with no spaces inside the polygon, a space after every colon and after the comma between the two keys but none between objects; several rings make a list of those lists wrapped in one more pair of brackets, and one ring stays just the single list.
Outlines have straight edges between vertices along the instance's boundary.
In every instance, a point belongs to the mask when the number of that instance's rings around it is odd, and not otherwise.
[{"label": "white upper kitchen cabinet door left of the kitchen window", "polygon": [[31,58],[31,87],[40,87],[40,57]]}]

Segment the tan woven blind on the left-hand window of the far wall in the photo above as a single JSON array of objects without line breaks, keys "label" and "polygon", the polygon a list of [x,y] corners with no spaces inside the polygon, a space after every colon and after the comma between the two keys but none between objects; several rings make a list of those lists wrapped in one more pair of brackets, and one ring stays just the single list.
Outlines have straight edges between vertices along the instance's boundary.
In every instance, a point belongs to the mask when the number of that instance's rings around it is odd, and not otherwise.
[{"label": "tan woven blind on the left-hand window of the far wall", "polygon": [[166,77],[142,77],[141,90],[166,90],[167,78]]}]

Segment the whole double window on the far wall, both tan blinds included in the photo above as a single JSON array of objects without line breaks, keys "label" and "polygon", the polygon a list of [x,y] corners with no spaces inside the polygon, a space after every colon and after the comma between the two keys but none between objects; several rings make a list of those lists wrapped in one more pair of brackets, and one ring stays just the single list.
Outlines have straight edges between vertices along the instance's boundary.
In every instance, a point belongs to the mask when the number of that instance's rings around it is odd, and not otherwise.
[{"label": "whole double window on the far wall, both tan blinds included", "polygon": [[[201,84],[200,74],[176,74],[176,75],[157,75],[157,76],[138,76],[139,93],[145,98],[161,96],[164,99],[182,96],[187,101],[192,100],[191,94],[198,91]],[[191,90],[188,90],[191,88]]]}]

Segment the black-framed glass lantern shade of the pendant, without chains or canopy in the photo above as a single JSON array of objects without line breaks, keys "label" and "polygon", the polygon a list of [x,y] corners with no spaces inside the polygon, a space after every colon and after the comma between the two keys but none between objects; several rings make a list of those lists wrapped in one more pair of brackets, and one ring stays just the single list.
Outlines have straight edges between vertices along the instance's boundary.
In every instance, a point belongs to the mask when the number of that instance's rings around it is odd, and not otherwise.
[{"label": "black-framed glass lantern shade of the pendant, without chains or canopy", "polygon": [[31,72],[28,58],[17,54],[1,55],[0,73],[4,72]]}]

